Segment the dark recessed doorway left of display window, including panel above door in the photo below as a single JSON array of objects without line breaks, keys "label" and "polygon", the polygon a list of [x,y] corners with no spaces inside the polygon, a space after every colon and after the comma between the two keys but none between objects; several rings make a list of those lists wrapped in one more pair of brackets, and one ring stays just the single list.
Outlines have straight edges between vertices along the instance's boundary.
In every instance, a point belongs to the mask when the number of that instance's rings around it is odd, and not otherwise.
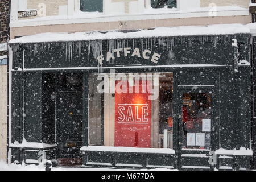
[{"label": "dark recessed doorway left of display window, including panel above door", "polygon": [[58,83],[56,97],[57,160],[60,166],[81,165],[82,74],[60,74]]}]

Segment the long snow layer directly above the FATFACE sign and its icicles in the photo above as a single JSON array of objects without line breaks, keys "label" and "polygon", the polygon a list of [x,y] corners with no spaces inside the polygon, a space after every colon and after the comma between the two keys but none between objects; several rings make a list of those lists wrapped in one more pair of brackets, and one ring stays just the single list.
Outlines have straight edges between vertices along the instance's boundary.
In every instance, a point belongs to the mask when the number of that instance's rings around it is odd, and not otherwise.
[{"label": "long snow layer directly above the FATFACE sign and its icicles", "polygon": [[158,27],[153,30],[138,30],[127,33],[118,30],[106,32],[75,32],[70,34],[68,32],[48,32],[12,39],[9,44],[229,34],[250,34],[250,28],[243,24],[216,24],[210,26]]}]

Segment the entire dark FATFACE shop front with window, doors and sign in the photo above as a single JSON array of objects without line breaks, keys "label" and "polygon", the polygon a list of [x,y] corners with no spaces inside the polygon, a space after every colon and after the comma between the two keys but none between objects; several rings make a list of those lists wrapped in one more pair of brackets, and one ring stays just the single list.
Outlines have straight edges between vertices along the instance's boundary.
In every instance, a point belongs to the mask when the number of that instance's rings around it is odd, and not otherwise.
[{"label": "entire dark FATFACE shop front with window, doors and sign", "polygon": [[249,34],[9,46],[11,162],[250,168]]}]

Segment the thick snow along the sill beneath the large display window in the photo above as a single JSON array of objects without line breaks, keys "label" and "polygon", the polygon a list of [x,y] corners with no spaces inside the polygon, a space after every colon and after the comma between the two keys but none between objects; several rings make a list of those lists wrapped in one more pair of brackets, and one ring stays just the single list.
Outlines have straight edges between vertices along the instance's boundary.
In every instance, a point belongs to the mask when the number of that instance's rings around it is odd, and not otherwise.
[{"label": "thick snow along the sill beneath the large display window", "polygon": [[106,147],[106,146],[84,146],[80,151],[99,151],[99,152],[133,152],[150,154],[175,154],[170,148],[137,148],[137,147]]}]

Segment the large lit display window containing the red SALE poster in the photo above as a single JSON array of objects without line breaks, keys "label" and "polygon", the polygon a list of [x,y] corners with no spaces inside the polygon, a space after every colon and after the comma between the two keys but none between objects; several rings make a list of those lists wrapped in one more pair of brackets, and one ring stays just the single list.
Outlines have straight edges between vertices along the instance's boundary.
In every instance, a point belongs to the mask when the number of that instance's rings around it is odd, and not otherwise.
[{"label": "large lit display window containing the red SALE poster", "polygon": [[89,75],[89,145],[172,148],[172,73]]}]

